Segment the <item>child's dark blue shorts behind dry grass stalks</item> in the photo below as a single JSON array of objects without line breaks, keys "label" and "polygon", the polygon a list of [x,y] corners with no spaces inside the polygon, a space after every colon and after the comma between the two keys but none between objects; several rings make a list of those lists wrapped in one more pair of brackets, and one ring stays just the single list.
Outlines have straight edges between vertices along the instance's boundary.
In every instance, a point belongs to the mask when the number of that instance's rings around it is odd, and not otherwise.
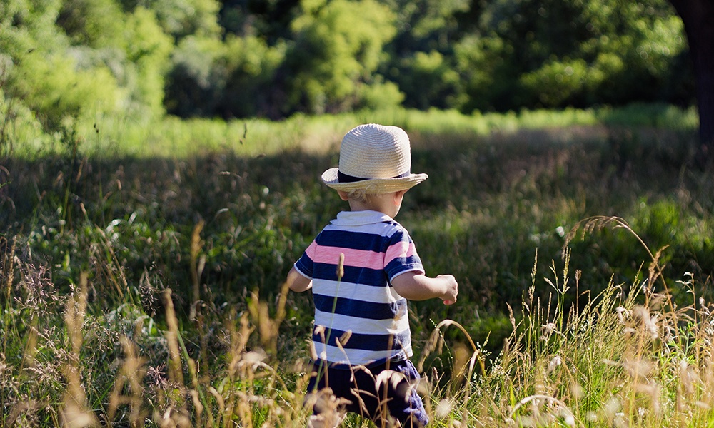
[{"label": "child's dark blue shorts behind dry grass stalks", "polygon": [[[380,373],[392,370],[387,382],[378,386],[376,379]],[[382,377],[389,373],[383,373]],[[423,427],[429,422],[421,397],[416,392],[419,372],[411,361],[386,362],[368,367],[347,368],[326,367],[326,363],[316,363],[308,384],[308,393],[326,387],[332,389],[335,397],[349,401],[347,412],[361,414],[371,419],[378,427],[386,420],[387,414],[401,422],[402,427]],[[319,414],[321,409],[313,407]]]}]

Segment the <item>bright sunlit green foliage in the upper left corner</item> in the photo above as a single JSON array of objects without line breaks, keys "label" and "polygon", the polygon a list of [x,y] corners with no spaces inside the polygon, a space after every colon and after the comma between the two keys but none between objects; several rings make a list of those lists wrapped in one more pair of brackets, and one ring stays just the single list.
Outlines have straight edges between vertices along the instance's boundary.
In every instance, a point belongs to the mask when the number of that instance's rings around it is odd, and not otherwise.
[{"label": "bright sunlit green foliage in the upper left corner", "polygon": [[6,8],[4,97],[16,110],[32,111],[46,131],[66,121],[163,114],[171,41],[151,12],[139,7],[125,15],[110,0]]}]

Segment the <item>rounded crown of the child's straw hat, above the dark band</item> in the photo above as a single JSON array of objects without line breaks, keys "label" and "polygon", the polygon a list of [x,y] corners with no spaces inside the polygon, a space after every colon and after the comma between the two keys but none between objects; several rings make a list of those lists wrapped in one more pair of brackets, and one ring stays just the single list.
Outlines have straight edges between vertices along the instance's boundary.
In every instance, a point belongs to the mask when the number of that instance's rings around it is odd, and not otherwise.
[{"label": "rounded crown of the child's straw hat, above the dark band", "polygon": [[341,173],[356,178],[393,178],[411,170],[407,133],[397,126],[368,123],[353,128],[340,145]]}]

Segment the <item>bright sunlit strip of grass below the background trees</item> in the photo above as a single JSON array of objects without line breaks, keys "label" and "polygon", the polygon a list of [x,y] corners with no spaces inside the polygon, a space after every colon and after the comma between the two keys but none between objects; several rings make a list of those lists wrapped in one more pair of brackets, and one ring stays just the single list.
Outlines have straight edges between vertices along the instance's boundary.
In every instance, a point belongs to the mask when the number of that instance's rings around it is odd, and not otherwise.
[{"label": "bright sunlit strip of grass below the background trees", "polygon": [[[599,140],[603,127],[645,127],[693,133],[698,126],[695,111],[660,105],[509,113],[476,111],[471,115],[436,109],[391,108],[332,116],[296,115],[279,122],[260,118],[223,121],[166,116],[149,123],[136,118],[97,116],[84,122],[67,118],[61,127],[63,131],[53,135],[44,135],[38,126],[29,122],[17,123],[11,135],[12,144],[0,148],[0,155],[34,158],[44,154],[68,154],[74,149],[99,158],[184,159],[207,153],[271,156],[294,149],[328,153],[337,151],[346,131],[370,122],[405,128],[416,149],[441,148],[454,141],[473,143],[486,136],[518,133],[535,135],[536,140],[540,140],[537,136],[545,132],[550,138],[568,140],[570,128],[576,138],[590,134]],[[548,131],[556,129],[557,133]],[[536,130],[540,131],[533,134]]]}]

